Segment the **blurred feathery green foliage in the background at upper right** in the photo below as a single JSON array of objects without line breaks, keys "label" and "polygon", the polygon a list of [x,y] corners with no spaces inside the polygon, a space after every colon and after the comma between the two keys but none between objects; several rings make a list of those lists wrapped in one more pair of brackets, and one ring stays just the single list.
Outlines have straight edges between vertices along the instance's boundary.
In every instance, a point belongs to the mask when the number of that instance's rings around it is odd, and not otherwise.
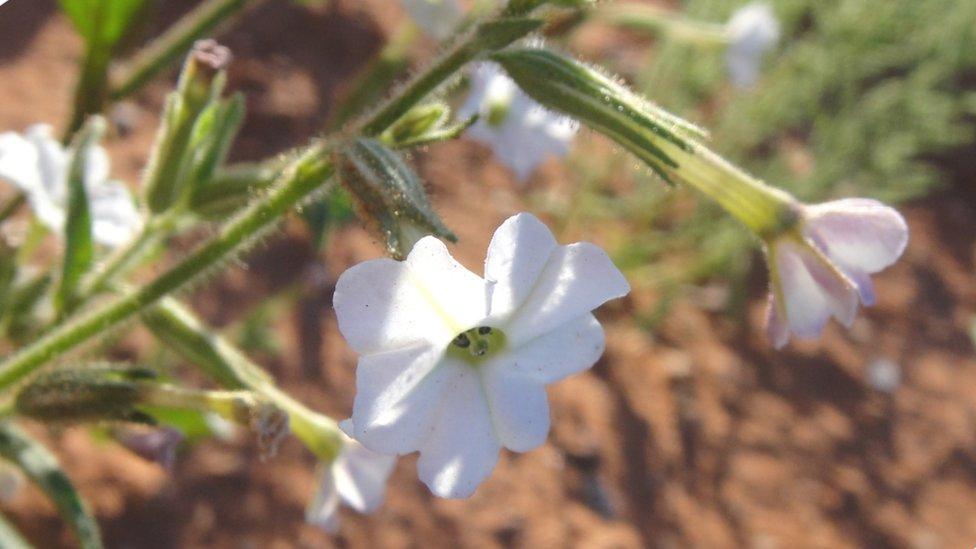
[{"label": "blurred feathery green foliage in the background at upper right", "polygon": [[[743,3],[690,0],[679,9],[722,24]],[[712,130],[710,146],[719,153],[805,201],[866,196],[898,203],[952,180],[936,162],[976,142],[976,3],[772,6],[783,36],[754,88],[728,83],[721,48],[677,36],[661,38],[644,68],[626,76],[665,108]],[[601,209],[604,181],[625,171],[631,167],[614,174],[605,168],[583,182],[591,190],[573,200],[584,217]],[[628,240],[666,236],[672,244],[639,253],[630,243],[618,255],[635,265],[659,262],[651,284],[661,289],[714,275],[735,281],[749,272],[754,243],[747,231],[711,204],[676,221],[661,207],[674,199],[659,192],[638,212],[621,210]]]}]

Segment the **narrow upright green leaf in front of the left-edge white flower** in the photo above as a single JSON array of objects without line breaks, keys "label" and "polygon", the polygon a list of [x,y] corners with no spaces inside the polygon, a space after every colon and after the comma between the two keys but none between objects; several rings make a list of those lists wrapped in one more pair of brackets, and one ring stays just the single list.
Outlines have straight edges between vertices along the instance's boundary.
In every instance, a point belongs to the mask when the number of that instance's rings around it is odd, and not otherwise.
[{"label": "narrow upright green leaf in front of the left-edge white flower", "polygon": [[78,132],[68,157],[68,215],[64,224],[64,262],[61,281],[54,294],[54,306],[59,314],[70,312],[82,278],[95,259],[92,240],[91,209],[85,179],[94,161],[93,151],[105,131],[105,121],[92,117]]}]

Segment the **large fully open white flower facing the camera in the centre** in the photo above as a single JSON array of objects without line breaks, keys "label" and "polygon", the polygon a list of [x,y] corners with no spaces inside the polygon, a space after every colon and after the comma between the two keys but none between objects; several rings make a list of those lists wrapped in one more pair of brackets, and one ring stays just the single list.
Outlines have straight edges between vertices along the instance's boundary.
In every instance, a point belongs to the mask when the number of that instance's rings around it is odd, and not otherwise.
[{"label": "large fully open white flower facing the camera in the centre", "polygon": [[603,250],[560,246],[527,213],[495,232],[485,278],[430,236],[405,261],[350,268],[334,303],[361,355],[355,438],[380,453],[419,451],[431,491],[471,495],[503,446],[545,441],[545,386],[597,361],[603,329],[591,311],[629,290]]}]

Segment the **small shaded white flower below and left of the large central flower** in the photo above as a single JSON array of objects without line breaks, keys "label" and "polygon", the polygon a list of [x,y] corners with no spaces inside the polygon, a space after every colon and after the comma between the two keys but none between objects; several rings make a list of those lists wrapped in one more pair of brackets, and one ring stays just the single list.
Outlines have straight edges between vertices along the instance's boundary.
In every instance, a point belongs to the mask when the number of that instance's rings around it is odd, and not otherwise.
[{"label": "small shaded white flower below and left of the large central flower", "polygon": [[[349,420],[340,424],[352,432]],[[372,513],[386,496],[386,481],[396,465],[396,456],[377,454],[348,436],[339,455],[319,471],[319,488],[305,511],[305,520],[335,533],[339,529],[339,504],[360,513]]]}]

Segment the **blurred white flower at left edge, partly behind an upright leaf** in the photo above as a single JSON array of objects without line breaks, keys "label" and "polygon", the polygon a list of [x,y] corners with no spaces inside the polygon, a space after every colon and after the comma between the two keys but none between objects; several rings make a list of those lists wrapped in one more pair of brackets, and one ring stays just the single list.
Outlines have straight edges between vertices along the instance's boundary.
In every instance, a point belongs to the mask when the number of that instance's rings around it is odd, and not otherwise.
[{"label": "blurred white flower at left edge, partly behind an upright leaf", "polygon": [[[109,179],[105,149],[92,147],[86,162],[85,190],[96,242],[119,246],[142,226],[125,184]],[[37,124],[24,135],[0,134],[0,177],[19,187],[37,218],[57,234],[64,231],[68,207],[68,152],[51,137],[51,127]]]}]

